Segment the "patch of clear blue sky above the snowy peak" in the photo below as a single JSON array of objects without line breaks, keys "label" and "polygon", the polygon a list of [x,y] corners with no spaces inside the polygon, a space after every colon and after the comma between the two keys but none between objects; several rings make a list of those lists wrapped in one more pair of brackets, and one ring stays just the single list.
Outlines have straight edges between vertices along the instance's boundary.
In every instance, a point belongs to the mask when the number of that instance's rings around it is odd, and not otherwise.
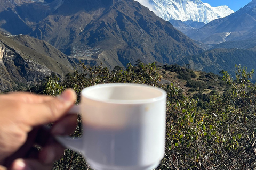
[{"label": "patch of clear blue sky above the snowy peak", "polygon": [[251,0],[201,0],[202,2],[207,2],[213,7],[227,5],[231,10],[237,11],[241,7],[247,5]]}]

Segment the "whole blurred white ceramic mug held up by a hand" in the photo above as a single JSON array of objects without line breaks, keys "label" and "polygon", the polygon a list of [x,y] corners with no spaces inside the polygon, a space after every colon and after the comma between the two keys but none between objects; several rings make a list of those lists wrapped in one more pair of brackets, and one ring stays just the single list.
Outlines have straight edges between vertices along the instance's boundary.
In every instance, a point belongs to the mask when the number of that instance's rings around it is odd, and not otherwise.
[{"label": "whole blurred white ceramic mug held up by a hand", "polygon": [[82,90],[78,107],[82,137],[57,140],[80,152],[93,169],[153,169],[164,157],[164,90],[142,84],[100,84]]}]

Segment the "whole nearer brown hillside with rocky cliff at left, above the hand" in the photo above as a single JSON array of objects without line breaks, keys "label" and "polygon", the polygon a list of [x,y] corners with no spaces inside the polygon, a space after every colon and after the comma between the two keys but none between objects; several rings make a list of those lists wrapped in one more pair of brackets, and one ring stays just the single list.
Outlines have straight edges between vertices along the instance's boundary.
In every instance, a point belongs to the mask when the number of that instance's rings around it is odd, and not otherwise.
[{"label": "whole nearer brown hillside with rocky cliff at left, above the hand", "polygon": [[28,88],[52,73],[64,77],[72,67],[65,54],[45,41],[0,33],[0,91]]}]

